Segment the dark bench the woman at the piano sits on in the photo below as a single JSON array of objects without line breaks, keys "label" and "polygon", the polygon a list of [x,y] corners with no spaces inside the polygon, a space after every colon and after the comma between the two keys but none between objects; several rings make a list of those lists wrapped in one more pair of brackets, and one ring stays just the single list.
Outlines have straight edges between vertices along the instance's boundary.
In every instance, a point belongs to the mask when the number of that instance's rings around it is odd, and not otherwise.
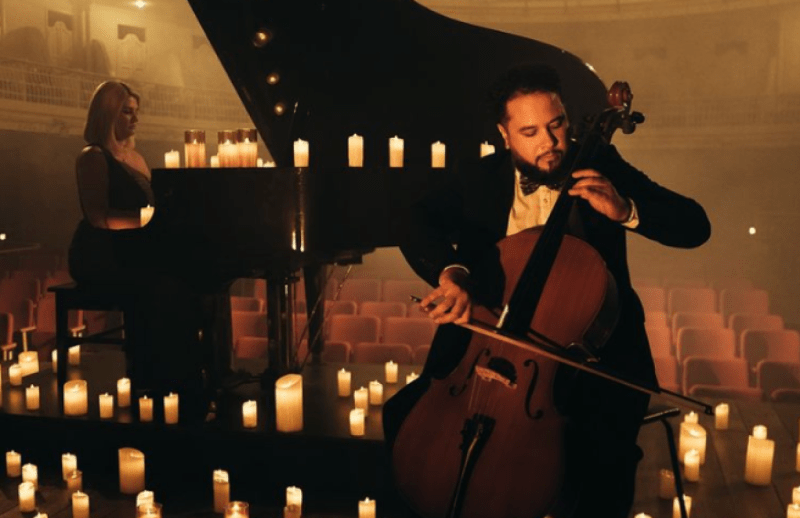
[{"label": "dark bench the woman at the piano sits on", "polygon": [[[58,361],[58,406],[64,413],[64,383],[67,381],[69,368],[69,348],[81,343],[127,345],[125,323],[127,315],[134,308],[134,296],[115,289],[115,286],[79,285],[75,282],[50,286],[47,291],[53,292],[56,298],[56,358]],[[69,312],[72,310],[118,311],[123,315],[123,325],[105,329],[92,335],[73,336],[69,325]],[[114,336],[121,333],[121,336]],[[133,379],[132,365],[126,362],[126,375]]]}]

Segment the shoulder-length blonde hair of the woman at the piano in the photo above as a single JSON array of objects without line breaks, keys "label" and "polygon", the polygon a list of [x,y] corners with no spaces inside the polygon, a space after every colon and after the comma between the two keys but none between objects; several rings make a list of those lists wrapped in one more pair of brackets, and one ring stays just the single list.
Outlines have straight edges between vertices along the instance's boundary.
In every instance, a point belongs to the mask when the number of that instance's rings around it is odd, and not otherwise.
[{"label": "shoulder-length blonde hair of the woman at the piano", "polygon": [[[112,142],[117,142],[114,123],[129,97],[139,103],[139,94],[134,93],[125,83],[105,81],[98,85],[89,101],[89,113],[86,115],[86,126],[83,130],[83,139],[87,144],[110,148]],[[133,137],[120,144],[123,147],[133,147]]]}]

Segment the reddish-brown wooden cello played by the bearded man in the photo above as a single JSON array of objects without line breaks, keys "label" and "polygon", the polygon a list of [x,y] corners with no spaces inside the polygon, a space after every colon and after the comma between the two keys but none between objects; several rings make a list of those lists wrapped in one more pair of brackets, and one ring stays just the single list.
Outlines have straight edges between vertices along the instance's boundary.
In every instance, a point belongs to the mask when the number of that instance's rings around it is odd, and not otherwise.
[{"label": "reddish-brown wooden cello played by the bearded man", "polygon": [[[631,113],[631,98],[615,83],[610,107],[571,148],[568,171],[585,167],[613,131],[629,133],[643,120]],[[576,181],[568,176],[563,189]],[[475,306],[460,363],[429,380],[394,437],[398,489],[426,518],[569,513],[567,418],[556,378],[564,363],[594,372],[616,320],[614,279],[600,254],[566,234],[573,204],[560,196],[543,227],[496,244],[502,304]]]}]

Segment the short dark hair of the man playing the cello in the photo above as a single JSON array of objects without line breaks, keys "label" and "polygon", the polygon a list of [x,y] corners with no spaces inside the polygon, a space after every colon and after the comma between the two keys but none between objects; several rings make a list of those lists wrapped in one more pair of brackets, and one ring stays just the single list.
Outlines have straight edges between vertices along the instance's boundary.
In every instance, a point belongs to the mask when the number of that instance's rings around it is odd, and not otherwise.
[{"label": "short dark hair of the man playing the cello", "polygon": [[518,95],[549,92],[561,95],[558,72],[543,63],[518,65],[501,75],[489,92],[489,108],[495,123],[506,120],[506,104]]}]

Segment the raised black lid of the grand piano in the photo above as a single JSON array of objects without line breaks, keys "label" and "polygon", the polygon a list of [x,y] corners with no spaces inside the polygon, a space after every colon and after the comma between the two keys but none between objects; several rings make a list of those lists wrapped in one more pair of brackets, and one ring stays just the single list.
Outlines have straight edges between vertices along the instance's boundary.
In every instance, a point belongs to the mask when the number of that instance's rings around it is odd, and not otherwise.
[{"label": "raised black lid of the grand piano", "polygon": [[475,158],[501,143],[486,109],[493,80],[514,64],[545,62],[562,77],[573,124],[606,106],[605,87],[554,46],[480,28],[412,0],[189,0],[279,166],[310,142],[311,167],[347,165],[347,137],[364,136],[365,167],[388,164],[405,139],[406,164]]}]

